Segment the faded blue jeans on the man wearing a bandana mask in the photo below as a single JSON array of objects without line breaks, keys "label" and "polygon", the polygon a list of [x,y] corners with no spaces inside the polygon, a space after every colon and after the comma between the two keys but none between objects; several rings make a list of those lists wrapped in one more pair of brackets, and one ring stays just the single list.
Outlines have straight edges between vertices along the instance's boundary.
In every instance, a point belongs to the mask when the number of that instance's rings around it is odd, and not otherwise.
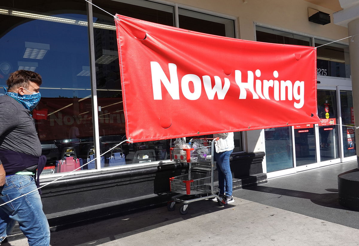
[{"label": "faded blue jeans on the man wearing a bandana mask", "polygon": [[[0,204],[36,188],[34,178],[30,175],[15,174],[6,177],[5,185],[1,190]],[[30,246],[48,246],[50,244],[50,228],[42,210],[41,198],[38,191],[0,206],[1,241],[8,233],[11,233],[14,221],[19,222],[20,230],[27,237]]]}]

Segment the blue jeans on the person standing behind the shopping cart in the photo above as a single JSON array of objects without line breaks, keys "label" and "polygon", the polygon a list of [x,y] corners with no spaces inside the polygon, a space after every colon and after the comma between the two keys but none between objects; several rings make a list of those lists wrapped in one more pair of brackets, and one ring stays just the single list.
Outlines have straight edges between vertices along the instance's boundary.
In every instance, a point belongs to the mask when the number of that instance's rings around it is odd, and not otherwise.
[{"label": "blue jeans on the person standing behind the shopping cart", "polygon": [[232,172],[229,166],[229,156],[233,150],[217,153],[214,151],[214,160],[217,162],[219,194],[232,196]]}]

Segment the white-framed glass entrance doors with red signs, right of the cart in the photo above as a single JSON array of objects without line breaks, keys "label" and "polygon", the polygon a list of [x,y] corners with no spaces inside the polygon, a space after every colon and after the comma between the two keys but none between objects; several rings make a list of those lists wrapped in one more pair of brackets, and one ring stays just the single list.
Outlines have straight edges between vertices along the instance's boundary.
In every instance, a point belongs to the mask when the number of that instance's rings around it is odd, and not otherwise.
[{"label": "white-framed glass entrance doors with red signs, right of the cart", "polygon": [[355,159],[351,88],[318,86],[317,101],[321,124],[264,130],[268,178]]}]

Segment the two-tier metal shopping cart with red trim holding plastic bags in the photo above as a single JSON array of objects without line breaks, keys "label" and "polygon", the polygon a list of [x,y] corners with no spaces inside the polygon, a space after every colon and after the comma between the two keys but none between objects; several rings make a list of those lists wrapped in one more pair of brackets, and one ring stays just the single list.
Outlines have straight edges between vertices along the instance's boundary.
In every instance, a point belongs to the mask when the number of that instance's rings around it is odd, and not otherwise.
[{"label": "two-tier metal shopping cart with red trim holding plastic bags", "polygon": [[213,186],[214,141],[217,139],[192,139],[190,149],[170,149],[171,160],[187,162],[188,173],[169,179],[170,190],[178,193],[167,203],[168,211],[176,208],[176,202],[182,203],[180,213],[188,212],[188,204],[194,201],[216,197],[218,204],[223,205],[223,198],[218,196],[218,188]]}]

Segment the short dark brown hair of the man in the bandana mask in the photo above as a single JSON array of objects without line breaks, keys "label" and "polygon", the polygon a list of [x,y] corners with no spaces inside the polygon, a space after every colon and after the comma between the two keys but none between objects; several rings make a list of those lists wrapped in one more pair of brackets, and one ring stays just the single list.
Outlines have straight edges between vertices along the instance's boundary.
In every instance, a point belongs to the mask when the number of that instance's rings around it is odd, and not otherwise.
[{"label": "short dark brown hair of the man in the bandana mask", "polygon": [[36,83],[40,86],[42,84],[41,76],[33,71],[18,70],[10,74],[6,84],[8,85],[8,90],[19,87],[28,89],[30,84],[29,82]]}]

